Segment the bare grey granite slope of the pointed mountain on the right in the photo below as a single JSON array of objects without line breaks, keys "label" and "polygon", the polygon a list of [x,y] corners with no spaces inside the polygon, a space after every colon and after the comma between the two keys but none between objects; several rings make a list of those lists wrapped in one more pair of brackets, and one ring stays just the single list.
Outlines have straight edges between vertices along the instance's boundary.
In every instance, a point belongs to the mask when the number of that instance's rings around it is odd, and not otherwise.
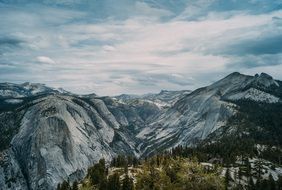
[{"label": "bare grey granite slope of the pointed mountain on the right", "polygon": [[236,114],[234,100],[278,103],[280,98],[281,87],[269,75],[262,73],[253,77],[232,73],[186,95],[160,114],[137,135],[144,139],[140,149],[147,156],[178,145],[193,146]]}]

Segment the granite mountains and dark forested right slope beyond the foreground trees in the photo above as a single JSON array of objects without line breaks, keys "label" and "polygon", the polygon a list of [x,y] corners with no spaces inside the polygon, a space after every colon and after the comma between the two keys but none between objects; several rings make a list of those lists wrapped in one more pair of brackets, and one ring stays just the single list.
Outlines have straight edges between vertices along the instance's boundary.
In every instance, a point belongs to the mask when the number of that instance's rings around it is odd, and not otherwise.
[{"label": "granite mountains and dark forested right slope beyond the foreground trees", "polygon": [[101,159],[108,166],[119,155],[132,156],[142,168],[163,154],[172,163],[196,158],[191,164],[200,168],[218,160],[223,185],[224,171],[231,171],[228,188],[248,188],[246,179],[244,185],[234,178],[246,160],[252,167],[254,160],[268,163],[267,177],[278,181],[281,98],[282,82],[265,73],[231,73],[194,91],[114,97],[1,83],[0,187],[55,189],[85,179]]}]

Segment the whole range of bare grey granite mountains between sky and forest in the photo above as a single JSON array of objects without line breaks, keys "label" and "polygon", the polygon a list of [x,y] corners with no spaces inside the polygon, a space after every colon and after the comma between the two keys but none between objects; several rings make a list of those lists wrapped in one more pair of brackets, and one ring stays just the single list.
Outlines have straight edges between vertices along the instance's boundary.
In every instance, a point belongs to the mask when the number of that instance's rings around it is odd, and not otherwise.
[{"label": "whole range of bare grey granite mountains between sky and forest", "polygon": [[264,73],[232,73],[193,92],[98,97],[2,83],[0,187],[54,189],[102,157],[195,146],[236,114],[236,101],[281,103],[281,85]]}]

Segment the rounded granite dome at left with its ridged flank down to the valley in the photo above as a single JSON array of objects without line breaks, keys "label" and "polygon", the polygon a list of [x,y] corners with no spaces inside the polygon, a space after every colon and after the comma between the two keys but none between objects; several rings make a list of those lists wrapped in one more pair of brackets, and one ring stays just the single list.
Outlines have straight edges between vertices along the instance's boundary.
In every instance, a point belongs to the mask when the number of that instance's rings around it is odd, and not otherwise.
[{"label": "rounded granite dome at left with its ridged flank down to the valley", "polygon": [[[24,114],[10,142],[13,154],[7,152],[7,159],[2,160],[11,166],[1,172],[1,187],[9,188],[7,173],[19,172],[30,189],[54,189],[63,179],[83,177],[102,157],[110,160],[123,150],[136,154],[134,143],[123,135],[101,99],[86,102],[74,96],[46,95],[17,109]],[[17,187],[11,184],[11,189]]]}]

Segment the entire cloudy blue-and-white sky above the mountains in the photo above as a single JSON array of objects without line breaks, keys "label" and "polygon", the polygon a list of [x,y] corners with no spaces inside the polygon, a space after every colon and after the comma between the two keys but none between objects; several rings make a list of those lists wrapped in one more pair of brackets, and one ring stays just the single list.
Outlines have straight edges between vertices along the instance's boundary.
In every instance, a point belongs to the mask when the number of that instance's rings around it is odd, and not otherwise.
[{"label": "entire cloudy blue-and-white sky above the mountains", "polygon": [[78,94],[282,80],[281,0],[0,0],[0,82]]}]

